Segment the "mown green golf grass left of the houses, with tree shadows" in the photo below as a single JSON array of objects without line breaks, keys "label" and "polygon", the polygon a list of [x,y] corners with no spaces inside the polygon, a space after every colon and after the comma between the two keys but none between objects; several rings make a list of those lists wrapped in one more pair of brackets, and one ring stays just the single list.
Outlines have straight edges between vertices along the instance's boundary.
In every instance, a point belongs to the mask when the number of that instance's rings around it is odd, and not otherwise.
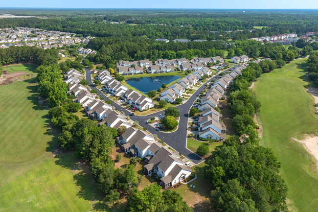
[{"label": "mown green golf grass left of the houses, with tree shadows", "polygon": [[[24,67],[9,69],[35,69]],[[87,165],[72,152],[52,154],[59,132],[47,127],[47,110],[38,103],[36,72],[32,74],[0,86],[0,211],[106,210]]]}]

